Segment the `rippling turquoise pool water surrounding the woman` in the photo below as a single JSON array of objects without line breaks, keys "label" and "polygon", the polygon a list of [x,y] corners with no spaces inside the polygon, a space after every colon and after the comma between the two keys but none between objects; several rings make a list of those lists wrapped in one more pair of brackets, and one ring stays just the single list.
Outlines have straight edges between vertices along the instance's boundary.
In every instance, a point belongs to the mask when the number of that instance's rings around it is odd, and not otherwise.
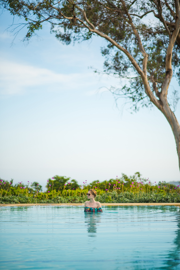
[{"label": "rippling turquoise pool water surrounding the woman", "polygon": [[0,269],[180,269],[174,206],[0,207]]}]

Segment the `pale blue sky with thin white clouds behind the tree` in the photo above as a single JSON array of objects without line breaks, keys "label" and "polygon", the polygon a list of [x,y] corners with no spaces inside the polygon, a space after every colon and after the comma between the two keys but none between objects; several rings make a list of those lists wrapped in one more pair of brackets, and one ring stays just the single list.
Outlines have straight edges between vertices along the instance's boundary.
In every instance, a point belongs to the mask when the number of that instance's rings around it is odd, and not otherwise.
[{"label": "pale blue sky with thin white clouds behind the tree", "polygon": [[[164,115],[155,107],[134,114],[125,107],[122,113],[100,88],[119,80],[88,69],[103,69],[102,38],[62,45],[47,24],[27,46],[20,41],[25,32],[11,46],[13,36],[5,29],[12,16],[4,12],[0,22],[1,178],[45,186],[56,174],[82,184],[140,171],[152,182],[180,180]],[[172,85],[179,91],[175,80]]]}]

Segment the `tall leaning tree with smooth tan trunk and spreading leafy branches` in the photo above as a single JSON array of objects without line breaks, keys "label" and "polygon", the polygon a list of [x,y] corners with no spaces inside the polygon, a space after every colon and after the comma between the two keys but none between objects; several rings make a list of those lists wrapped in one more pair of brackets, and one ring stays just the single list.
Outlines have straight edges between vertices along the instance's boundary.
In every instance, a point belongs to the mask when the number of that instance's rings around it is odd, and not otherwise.
[{"label": "tall leaning tree with smooth tan trunk and spreading leafy branches", "polygon": [[[180,168],[180,126],[167,100],[173,76],[180,84],[180,2],[179,0],[0,0],[2,8],[25,20],[24,40],[29,40],[43,23],[67,45],[98,35],[107,40],[101,50],[106,60],[104,73],[124,78],[117,97],[127,97],[132,107],[154,104],[173,131]],[[151,20],[148,20],[151,19]],[[173,75],[174,71],[174,75]],[[158,138],[159,140],[160,138]],[[148,143],[148,142],[147,142]]]}]

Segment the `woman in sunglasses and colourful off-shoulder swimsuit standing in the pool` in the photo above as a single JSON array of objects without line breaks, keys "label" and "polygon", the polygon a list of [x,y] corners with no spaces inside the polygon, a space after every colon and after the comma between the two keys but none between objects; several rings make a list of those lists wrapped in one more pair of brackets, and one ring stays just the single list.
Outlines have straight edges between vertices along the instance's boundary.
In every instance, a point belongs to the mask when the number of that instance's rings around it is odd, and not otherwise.
[{"label": "woman in sunglasses and colourful off-shoulder swimsuit standing in the pool", "polygon": [[96,197],[96,190],[90,189],[87,193],[87,198],[90,199],[90,201],[85,201],[84,203],[84,212],[103,212],[101,209],[100,202],[96,202],[94,198]]}]

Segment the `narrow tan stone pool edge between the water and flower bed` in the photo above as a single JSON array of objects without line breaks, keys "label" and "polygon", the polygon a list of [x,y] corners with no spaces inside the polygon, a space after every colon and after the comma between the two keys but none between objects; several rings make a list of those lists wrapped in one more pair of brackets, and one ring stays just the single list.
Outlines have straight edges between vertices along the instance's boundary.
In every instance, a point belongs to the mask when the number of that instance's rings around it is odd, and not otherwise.
[{"label": "narrow tan stone pool edge between the water and flower bed", "polygon": [[[0,206],[48,206],[48,205],[83,205],[84,203],[19,203],[19,204],[0,204]],[[175,205],[180,206],[180,203],[101,203],[103,206],[133,206],[133,205]]]}]

